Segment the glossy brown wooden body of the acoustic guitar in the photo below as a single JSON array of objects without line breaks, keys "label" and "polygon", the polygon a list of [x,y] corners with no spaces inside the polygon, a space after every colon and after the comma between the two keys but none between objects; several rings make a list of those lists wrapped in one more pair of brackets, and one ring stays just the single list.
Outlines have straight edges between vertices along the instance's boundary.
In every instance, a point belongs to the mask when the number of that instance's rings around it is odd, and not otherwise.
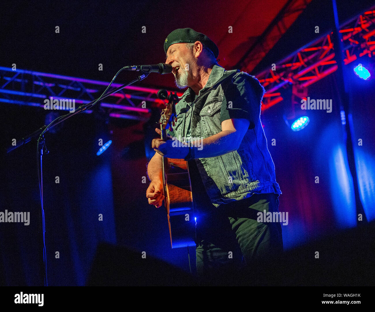
[{"label": "glossy brown wooden body of the acoustic guitar", "polygon": [[172,248],[195,246],[193,197],[185,160],[163,157],[163,190]]}]

